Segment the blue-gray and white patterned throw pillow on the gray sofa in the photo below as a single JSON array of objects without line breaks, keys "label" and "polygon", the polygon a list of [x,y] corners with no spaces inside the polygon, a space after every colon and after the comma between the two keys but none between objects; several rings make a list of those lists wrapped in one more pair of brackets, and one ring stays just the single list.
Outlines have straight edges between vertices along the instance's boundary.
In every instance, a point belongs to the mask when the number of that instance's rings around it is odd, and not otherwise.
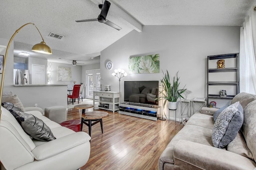
[{"label": "blue-gray and white patterned throw pillow on the gray sofa", "polygon": [[212,129],[212,143],[223,148],[234,140],[244,121],[243,108],[236,102],[224,109],[217,117]]}]

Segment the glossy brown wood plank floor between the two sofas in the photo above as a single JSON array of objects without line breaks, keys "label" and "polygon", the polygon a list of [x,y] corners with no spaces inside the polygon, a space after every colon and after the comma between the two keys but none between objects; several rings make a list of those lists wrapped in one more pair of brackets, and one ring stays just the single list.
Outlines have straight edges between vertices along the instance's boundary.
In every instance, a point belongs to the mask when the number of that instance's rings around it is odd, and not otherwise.
[{"label": "glossy brown wood plank floor between the two sofas", "polygon": [[[81,110],[68,109],[67,119],[81,119]],[[108,112],[92,126],[91,153],[81,170],[158,170],[158,158],[182,129],[175,121],[152,121]],[[88,133],[88,127],[83,126]]]}]

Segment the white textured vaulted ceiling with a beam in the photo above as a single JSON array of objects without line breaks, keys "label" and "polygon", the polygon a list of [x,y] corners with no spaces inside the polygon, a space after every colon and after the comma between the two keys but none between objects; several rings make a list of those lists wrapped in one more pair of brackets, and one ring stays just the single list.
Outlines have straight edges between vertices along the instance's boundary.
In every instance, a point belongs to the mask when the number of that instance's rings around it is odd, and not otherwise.
[{"label": "white textured vaulted ceiling with a beam", "polygon": [[[78,60],[92,64],[99,63],[100,51],[133,29],[140,31],[142,25],[240,26],[248,10],[256,6],[256,0],[110,0],[107,19],[122,27],[120,31],[98,21],[75,22],[97,18],[100,2],[0,0],[0,37],[10,39],[20,26],[33,22],[53,49],[53,55],[42,56],[30,51],[32,44],[41,41],[33,25],[27,25],[14,37],[14,55],[26,51],[31,56],[46,57],[53,62]],[[61,40],[48,37],[50,32],[64,37]]]}]

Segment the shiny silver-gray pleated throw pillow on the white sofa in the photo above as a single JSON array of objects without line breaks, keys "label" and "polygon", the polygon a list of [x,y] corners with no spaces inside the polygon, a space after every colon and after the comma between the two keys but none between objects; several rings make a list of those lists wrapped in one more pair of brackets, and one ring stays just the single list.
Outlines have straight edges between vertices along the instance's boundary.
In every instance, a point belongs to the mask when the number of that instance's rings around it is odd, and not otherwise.
[{"label": "shiny silver-gray pleated throw pillow on the white sofa", "polygon": [[[23,121],[22,119],[17,119],[17,121],[30,137],[39,141],[52,141],[55,139],[51,129],[38,117],[21,111],[10,110],[10,112],[14,112],[12,115],[14,115],[16,119],[17,117],[23,118]],[[15,113],[17,115],[15,115]]]}]

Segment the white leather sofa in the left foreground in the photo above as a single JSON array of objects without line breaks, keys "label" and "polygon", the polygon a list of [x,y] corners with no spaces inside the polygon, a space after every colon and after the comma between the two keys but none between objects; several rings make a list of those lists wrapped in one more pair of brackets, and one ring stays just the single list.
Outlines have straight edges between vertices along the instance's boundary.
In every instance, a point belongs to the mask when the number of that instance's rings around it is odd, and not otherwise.
[{"label": "white leather sofa in the left foreground", "polygon": [[87,133],[62,127],[40,111],[27,111],[41,119],[56,138],[38,141],[24,132],[10,111],[1,108],[1,170],[76,170],[88,161],[91,137]]}]

